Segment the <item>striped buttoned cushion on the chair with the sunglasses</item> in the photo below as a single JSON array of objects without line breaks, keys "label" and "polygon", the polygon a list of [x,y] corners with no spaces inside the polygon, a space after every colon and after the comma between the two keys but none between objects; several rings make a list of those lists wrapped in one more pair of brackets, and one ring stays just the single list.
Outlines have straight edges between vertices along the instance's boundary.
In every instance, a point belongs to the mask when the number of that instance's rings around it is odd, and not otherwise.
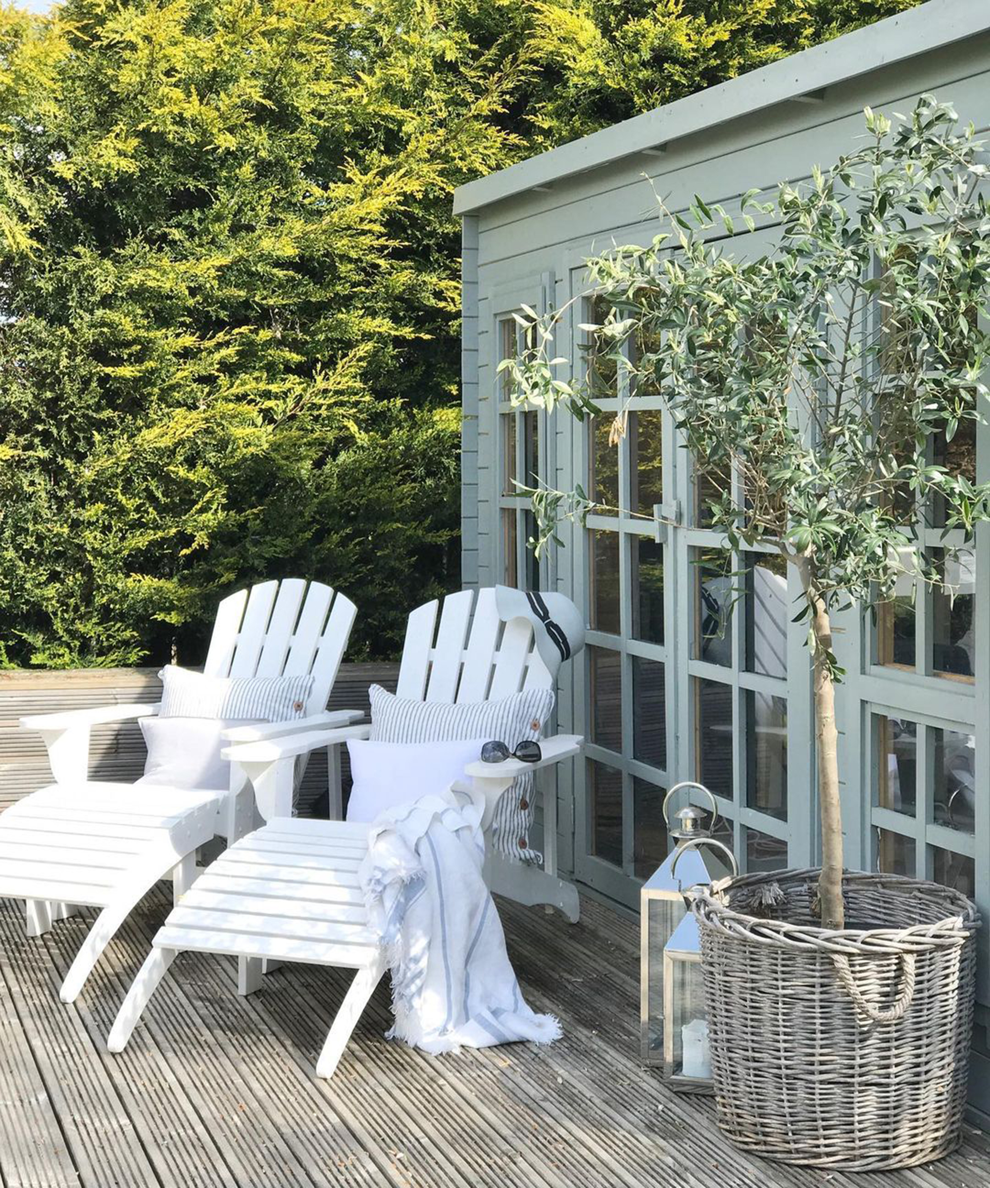
[{"label": "striped buttoned cushion on the chair with the sunglasses", "polygon": [[[551,689],[525,689],[499,701],[450,704],[411,701],[373,684],[371,738],[380,742],[454,742],[466,739],[498,739],[513,751],[524,739],[538,739],[554,708]],[[494,848],[524,862],[542,862],[531,849],[532,775],[519,776],[496,805],[492,819]]]}]

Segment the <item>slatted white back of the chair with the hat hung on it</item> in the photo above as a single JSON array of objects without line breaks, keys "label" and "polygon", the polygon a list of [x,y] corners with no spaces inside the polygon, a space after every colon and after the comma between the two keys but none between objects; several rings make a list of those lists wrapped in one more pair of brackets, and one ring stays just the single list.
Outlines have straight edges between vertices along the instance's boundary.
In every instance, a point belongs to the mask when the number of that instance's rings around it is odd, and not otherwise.
[{"label": "slatted white back of the chair with the hat hung on it", "polygon": [[553,688],[559,668],[543,663],[529,623],[499,618],[493,588],[477,596],[460,590],[443,599],[442,611],[435,599],[409,615],[396,693],[414,701],[494,701]]}]

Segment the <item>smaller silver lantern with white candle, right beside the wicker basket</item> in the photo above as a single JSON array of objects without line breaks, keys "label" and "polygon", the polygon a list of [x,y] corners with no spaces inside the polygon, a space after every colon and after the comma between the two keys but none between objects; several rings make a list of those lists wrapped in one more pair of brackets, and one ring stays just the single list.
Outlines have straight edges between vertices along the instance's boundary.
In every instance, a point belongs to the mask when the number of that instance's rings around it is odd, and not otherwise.
[{"label": "smaller silver lantern with white candle, right beside the wicker basket", "polygon": [[[732,873],[738,873],[731,849],[714,838],[695,838],[674,852],[671,878],[676,874],[675,868],[687,865],[688,857],[699,855],[702,847],[724,854]],[[663,1074],[671,1089],[713,1092],[701,979],[701,940],[698,921],[691,911],[686,912],[663,948]]]}]

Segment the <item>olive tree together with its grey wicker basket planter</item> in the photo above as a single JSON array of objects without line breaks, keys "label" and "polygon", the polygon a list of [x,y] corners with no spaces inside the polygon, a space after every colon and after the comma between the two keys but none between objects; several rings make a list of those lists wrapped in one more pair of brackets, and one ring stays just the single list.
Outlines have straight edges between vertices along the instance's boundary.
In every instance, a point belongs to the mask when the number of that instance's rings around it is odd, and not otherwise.
[{"label": "olive tree together with its grey wicker basket planter", "polygon": [[[588,261],[610,312],[582,328],[629,369],[631,407],[639,381],[664,394],[695,476],[731,476],[708,508],[729,545],[771,545],[800,576],[821,867],[744,877],[695,912],[723,1126],[765,1155],[852,1168],[956,1145],[973,994],[972,905],[843,864],[833,615],[889,604],[904,575],[946,581],[919,516],[966,538],[990,519],[990,485],[931,446],[986,411],[986,168],[931,96],[898,119],[868,110],[862,147],[773,201],[662,208],[650,247]],[[752,258],[736,240],[756,220],[777,234]],[[502,368],[519,404],[584,416],[592,386],[553,358],[561,312],[529,311],[531,347]],[[594,511],[580,488],[530,495],[537,548]]]}]

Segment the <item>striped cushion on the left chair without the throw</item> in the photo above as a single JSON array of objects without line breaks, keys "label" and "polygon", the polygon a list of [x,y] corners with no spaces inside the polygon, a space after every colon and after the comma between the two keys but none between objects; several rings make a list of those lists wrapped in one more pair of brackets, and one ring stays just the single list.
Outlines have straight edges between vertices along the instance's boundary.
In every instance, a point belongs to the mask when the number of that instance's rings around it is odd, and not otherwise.
[{"label": "striped cushion on the left chair without the throw", "polygon": [[248,719],[288,722],[305,716],[313,676],[203,676],[169,664],[162,680],[160,718]]}]

